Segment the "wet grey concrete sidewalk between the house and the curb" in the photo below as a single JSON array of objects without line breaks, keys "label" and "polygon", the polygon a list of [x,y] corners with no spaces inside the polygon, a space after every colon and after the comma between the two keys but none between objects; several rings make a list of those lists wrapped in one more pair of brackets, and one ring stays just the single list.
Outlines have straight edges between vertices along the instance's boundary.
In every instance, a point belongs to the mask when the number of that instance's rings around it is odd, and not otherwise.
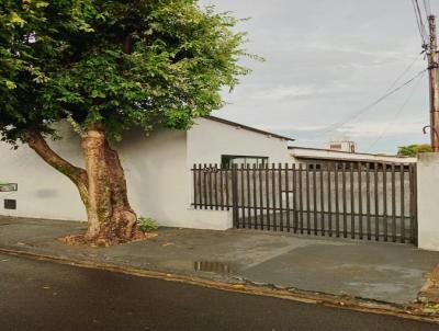
[{"label": "wet grey concrete sidewalk between the house and the curb", "polygon": [[250,230],[162,228],[156,238],[110,248],[56,240],[85,229],[81,222],[0,216],[0,248],[393,304],[414,301],[439,263],[438,252],[412,246]]}]

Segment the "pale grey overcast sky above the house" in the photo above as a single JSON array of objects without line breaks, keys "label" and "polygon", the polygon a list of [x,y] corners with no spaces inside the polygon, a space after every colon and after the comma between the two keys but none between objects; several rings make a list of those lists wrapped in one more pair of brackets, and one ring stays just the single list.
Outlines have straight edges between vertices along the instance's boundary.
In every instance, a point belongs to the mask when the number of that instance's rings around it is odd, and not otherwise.
[{"label": "pale grey overcast sky above the house", "polygon": [[[439,0],[430,2],[439,14]],[[251,18],[238,30],[249,33],[249,53],[266,58],[249,64],[254,72],[225,93],[230,104],[214,115],[291,136],[300,146],[323,147],[348,135],[359,151],[395,153],[397,146],[429,141],[421,132],[429,121],[427,75],[351,118],[418,57],[421,42],[410,0],[202,3]],[[393,87],[426,67],[419,57]]]}]

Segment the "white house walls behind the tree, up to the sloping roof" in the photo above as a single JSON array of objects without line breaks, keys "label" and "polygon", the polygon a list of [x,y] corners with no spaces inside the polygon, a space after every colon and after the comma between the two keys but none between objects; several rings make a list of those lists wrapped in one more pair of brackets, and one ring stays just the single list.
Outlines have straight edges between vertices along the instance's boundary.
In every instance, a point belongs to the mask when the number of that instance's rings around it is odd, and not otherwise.
[{"label": "white house walls behind the tree, up to the sloping roof", "polygon": [[[63,141],[53,148],[71,163],[83,167],[80,144],[68,125]],[[198,118],[188,132],[161,129],[146,136],[132,132],[119,144],[126,171],[128,195],[138,215],[160,225],[226,229],[229,212],[194,210],[190,169],[194,163],[291,162],[293,139],[234,122]],[[11,150],[0,142],[0,181],[18,183],[16,192],[0,193],[0,215],[86,220],[75,185],[47,166],[26,146]]]}]

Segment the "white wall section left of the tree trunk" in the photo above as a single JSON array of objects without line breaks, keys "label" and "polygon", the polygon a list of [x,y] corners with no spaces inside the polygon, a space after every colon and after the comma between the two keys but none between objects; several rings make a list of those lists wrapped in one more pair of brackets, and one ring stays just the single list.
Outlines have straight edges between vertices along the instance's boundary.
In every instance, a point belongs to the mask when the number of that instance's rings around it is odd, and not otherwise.
[{"label": "white wall section left of the tree trunk", "polygon": [[[75,166],[83,167],[78,136],[66,133],[63,144],[49,142],[56,152]],[[0,181],[19,184],[18,192],[0,192],[0,215],[50,219],[86,220],[79,193],[27,146],[11,150],[0,141]],[[3,199],[16,199],[16,210],[3,208]]]}]

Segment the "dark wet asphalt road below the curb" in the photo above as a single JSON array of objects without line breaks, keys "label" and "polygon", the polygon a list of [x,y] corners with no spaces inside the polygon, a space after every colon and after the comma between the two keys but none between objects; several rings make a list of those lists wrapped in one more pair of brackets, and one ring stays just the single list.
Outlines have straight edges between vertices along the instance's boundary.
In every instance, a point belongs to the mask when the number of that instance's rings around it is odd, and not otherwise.
[{"label": "dark wet asphalt road below the curb", "polygon": [[438,324],[0,254],[4,331],[430,331]]}]

